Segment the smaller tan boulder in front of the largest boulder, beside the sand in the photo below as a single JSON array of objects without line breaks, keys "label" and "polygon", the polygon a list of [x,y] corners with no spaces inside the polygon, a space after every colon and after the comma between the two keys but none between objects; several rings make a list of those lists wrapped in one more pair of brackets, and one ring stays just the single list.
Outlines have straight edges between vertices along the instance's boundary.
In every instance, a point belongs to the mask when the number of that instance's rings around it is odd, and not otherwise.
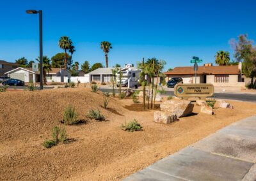
[{"label": "smaller tan boulder in front of the largest boulder, beside the sand", "polygon": [[178,120],[177,115],[170,112],[154,112],[154,122],[170,124],[171,122]]}]

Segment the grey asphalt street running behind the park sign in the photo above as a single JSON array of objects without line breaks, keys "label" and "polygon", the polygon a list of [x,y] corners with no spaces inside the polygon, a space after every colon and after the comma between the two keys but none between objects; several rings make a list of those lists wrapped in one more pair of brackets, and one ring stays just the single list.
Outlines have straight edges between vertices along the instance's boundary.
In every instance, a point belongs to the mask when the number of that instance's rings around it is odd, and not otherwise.
[{"label": "grey asphalt street running behind the park sign", "polygon": [[[112,89],[100,89],[102,92],[112,92]],[[115,90],[118,92],[118,90]],[[164,96],[174,96],[173,91],[166,91]],[[256,94],[246,94],[246,93],[214,93],[216,99],[232,99],[237,101],[247,101],[256,103]]]}]

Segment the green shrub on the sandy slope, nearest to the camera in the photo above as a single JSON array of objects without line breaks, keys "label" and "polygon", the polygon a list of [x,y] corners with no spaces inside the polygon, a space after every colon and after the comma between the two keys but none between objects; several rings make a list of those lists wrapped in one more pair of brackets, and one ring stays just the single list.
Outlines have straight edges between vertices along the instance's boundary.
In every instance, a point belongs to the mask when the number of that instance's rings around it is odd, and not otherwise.
[{"label": "green shrub on the sandy slope, nearest to the camera", "polygon": [[54,126],[52,128],[52,140],[46,140],[43,143],[45,148],[51,148],[53,146],[58,145],[58,143],[67,143],[67,133],[65,128],[60,128],[58,126]]}]

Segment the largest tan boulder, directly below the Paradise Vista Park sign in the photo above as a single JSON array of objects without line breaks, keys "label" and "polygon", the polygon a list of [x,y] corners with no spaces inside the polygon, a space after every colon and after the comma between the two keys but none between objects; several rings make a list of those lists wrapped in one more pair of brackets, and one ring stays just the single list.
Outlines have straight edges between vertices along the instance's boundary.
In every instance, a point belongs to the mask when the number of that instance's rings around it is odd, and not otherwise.
[{"label": "largest tan boulder, directly below the Paradise Vista Park sign", "polygon": [[190,115],[193,112],[193,108],[194,105],[191,103],[191,101],[179,99],[164,101],[160,105],[161,111],[173,113],[177,115],[178,118]]}]

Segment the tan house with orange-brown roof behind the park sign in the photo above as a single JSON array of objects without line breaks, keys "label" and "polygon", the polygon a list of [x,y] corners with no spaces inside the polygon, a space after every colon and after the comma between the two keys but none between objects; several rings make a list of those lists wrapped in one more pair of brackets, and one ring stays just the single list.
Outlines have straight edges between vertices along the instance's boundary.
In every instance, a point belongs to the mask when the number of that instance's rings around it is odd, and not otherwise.
[{"label": "tan house with orange-brown roof behind the park sign", "polygon": [[[204,64],[204,66],[198,66],[196,83],[212,83],[214,86],[244,86],[241,68],[241,63],[237,66]],[[166,75],[166,81],[173,77],[181,77],[183,83],[195,83],[193,66],[176,67],[172,71],[165,72],[164,75]]]}]

